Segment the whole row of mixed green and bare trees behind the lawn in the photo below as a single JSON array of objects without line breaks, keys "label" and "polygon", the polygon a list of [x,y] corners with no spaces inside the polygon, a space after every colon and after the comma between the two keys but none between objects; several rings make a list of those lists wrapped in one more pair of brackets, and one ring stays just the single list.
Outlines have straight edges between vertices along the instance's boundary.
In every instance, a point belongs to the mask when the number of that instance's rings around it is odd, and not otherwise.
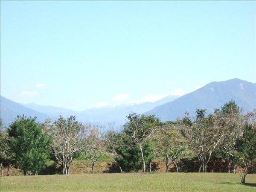
[{"label": "whole row of mixed green and bare trees behind the lawn", "polygon": [[[1,130],[1,167],[11,165],[35,175],[55,160],[63,174],[70,173],[73,158],[80,156],[92,164],[103,152],[108,151],[113,164],[120,172],[151,172],[156,157],[163,158],[166,172],[173,163],[179,172],[180,159],[195,154],[198,172],[207,172],[212,154],[232,161],[233,172],[241,166],[241,181],[245,182],[248,165],[256,161],[255,113],[241,115],[231,100],[213,114],[198,109],[195,118],[185,113],[176,122],[160,122],[152,116],[130,113],[122,131],[107,131],[98,127],[82,125],[74,116],[55,122],[47,119],[43,124],[35,118],[18,116],[7,131]],[[3,170],[3,169],[2,169]]]}]

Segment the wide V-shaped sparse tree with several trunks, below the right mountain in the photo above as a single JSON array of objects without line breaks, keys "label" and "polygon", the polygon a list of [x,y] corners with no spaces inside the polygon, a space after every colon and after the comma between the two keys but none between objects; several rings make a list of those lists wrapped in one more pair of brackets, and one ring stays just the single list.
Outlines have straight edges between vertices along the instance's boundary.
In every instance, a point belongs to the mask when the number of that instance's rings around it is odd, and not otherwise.
[{"label": "wide V-shaped sparse tree with several trunks, below the right mountain", "polygon": [[224,137],[224,131],[219,127],[218,119],[217,115],[206,116],[205,109],[198,109],[194,120],[191,120],[188,115],[182,120],[181,133],[200,162],[198,172],[201,172],[201,169],[207,172],[207,164],[212,152]]}]

